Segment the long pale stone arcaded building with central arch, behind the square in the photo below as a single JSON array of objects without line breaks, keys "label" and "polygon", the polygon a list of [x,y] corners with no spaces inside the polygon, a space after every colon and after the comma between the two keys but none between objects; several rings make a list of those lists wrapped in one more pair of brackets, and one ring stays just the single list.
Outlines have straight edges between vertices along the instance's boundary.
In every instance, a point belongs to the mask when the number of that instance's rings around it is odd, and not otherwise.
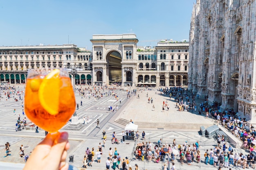
[{"label": "long pale stone arcaded building with central arch, behind the square", "polygon": [[155,47],[142,47],[135,34],[93,35],[90,41],[92,51],[74,44],[0,47],[0,81],[25,83],[33,68],[75,68],[76,85],[188,84],[189,42],[161,40]]}]

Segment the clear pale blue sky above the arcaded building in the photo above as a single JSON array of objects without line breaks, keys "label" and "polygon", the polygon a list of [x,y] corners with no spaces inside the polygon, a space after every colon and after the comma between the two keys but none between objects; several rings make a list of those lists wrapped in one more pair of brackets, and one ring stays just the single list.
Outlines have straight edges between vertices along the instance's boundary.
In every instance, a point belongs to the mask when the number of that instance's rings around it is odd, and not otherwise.
[{"label": "clear pale blue sky above the arcaded building", "polygon": [[76,44],[94,34],[134,33],[138,46],[189,39],[196,0],[0,0],[0,46]]}]

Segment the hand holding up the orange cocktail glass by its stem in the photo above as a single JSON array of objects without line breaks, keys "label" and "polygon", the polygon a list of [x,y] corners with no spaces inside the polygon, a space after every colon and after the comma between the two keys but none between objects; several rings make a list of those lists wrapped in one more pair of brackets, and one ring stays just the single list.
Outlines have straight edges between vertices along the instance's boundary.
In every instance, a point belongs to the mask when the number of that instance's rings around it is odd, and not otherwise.
[{"label": "hand holding up the orange cocktail glass by its stem", "polygon": [[33,150],[23,170],[68,170],[66,157],[69,148],[67,132],[48,133]]}]

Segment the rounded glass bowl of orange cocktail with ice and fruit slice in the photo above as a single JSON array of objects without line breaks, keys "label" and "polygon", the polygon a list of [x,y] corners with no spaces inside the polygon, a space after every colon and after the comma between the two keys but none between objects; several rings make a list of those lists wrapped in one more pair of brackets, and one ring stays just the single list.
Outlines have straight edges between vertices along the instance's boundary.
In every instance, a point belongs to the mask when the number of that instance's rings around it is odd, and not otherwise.
[{"label": "rounded glass bowl of orange cocktail with ice and fruit slice", "polygon": [[65,69],[29,70],[25,89],[25,114],[49,132],[61,129],[76,108],[76,100]]}]

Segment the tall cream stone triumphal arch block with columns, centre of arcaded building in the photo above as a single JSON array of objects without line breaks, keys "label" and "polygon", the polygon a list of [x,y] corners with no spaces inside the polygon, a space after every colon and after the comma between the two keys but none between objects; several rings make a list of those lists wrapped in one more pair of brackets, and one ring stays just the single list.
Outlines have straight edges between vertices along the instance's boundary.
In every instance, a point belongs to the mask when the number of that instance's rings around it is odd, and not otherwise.
[{"label": "tall cream stone triumphal arch block with columns, centre of arcaded building", "polygon": [[93,84],[135,86],[135,34],[92,35]]}]

